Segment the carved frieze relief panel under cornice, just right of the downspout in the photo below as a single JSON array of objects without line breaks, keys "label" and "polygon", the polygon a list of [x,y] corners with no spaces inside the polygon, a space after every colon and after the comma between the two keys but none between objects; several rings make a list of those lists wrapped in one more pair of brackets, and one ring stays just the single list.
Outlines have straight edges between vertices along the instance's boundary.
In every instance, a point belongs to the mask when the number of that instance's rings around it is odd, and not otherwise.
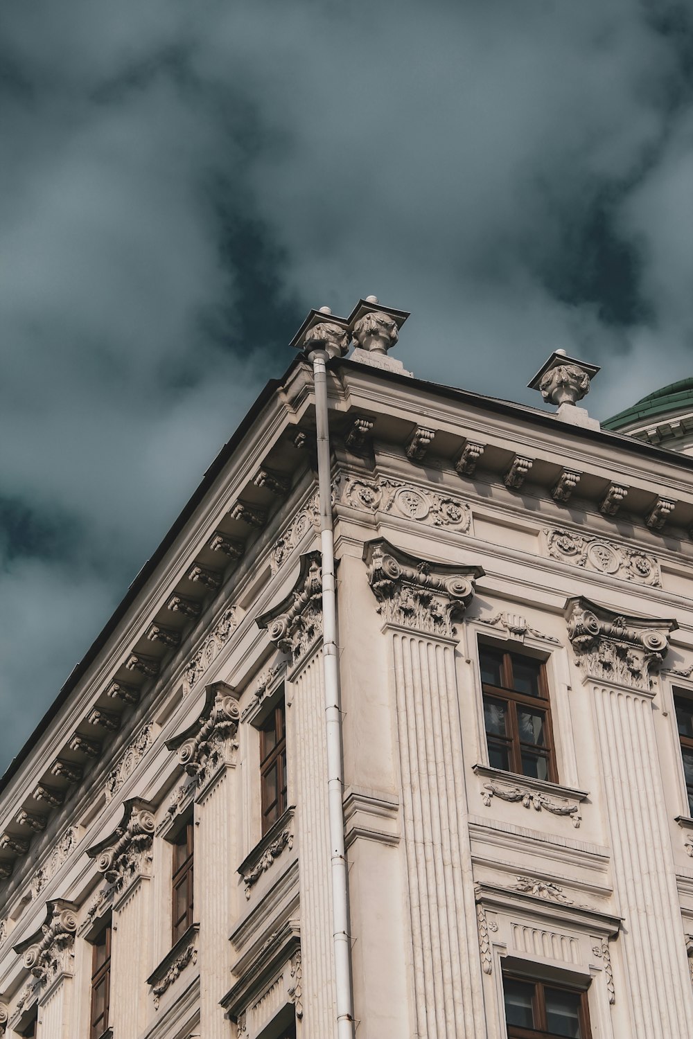
[{"label": "carved frieze relief panel under cornice, just right of the downspout", "polygon": [[472,527],[472,510],[467,502],[384,477],[378,480],[348,477],[341,486],[340,501],[351,508],[390,512],[427,527],[449,527],[461,534]]}]

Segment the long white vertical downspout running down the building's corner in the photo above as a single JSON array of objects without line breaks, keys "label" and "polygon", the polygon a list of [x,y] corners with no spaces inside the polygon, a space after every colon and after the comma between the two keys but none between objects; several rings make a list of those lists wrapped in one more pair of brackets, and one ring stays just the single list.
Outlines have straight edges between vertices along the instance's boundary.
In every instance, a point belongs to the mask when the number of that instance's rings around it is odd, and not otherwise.
[{"label": "long white vertical downspout running down the building's corner", "polygon": [[[332,487],[327,411],[324,341],[314,341],[310,349],[315,379],[315,412],[318,438],[318,489],[320,495],[320,542],[322,551],[322,659],[325,675],[325,729],[327,736],[327,798],[332,880],[332,935],[335,947],[335,994],[337,1037],[353,1039],[351,1004],[351,947],[347,867],[344,850],[344,783],[342,776],[342,713],[339,690],[337,646],[337,596],[335,585],[335,535],[332,529]],[[308,344],[306,344],[308,345]],[[313,344],[311,344],[312,346]]]}]

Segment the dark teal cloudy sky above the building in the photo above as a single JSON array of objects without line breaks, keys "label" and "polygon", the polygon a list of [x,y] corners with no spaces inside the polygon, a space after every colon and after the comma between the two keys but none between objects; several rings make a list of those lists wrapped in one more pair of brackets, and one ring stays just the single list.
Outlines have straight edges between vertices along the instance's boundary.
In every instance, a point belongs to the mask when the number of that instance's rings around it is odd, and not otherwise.
[{"label": "dark teal cloudy sky above the building", "polygon": [[8,0],[0,91],[0,769],[310,307],[693,374],[690,0]]}]

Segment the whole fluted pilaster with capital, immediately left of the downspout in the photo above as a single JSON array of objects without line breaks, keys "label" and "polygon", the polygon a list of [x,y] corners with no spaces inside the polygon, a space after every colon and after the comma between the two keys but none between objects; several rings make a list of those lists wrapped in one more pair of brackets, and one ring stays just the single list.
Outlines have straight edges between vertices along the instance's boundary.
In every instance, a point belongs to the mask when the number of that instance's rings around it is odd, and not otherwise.
[{"label": "whole fluted pilaster with capital, immediately left of the downspout", "polygon": [[296,753],[296,834],[300,856],[301,1039],[335,1034],[335,955],[327,746],[322,664],[320,554],[301,556],[298,581],[274,610],[258,618],[270,639],[291,658],[287,700],[293,703]]}]

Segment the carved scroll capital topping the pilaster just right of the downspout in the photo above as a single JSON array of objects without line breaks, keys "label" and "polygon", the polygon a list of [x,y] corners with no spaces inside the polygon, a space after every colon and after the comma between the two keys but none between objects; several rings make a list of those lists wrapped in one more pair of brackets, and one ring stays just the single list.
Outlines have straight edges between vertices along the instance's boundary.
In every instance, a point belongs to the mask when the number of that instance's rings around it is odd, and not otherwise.
[{"label": "carved scroll capital topping the pilaster just right of the downspout", "polygon": [[455,635],[474,595],[479,566],[449,566],[417,559],[383,539],[364,547],[368,583],[387,624],[444,638]]}]

